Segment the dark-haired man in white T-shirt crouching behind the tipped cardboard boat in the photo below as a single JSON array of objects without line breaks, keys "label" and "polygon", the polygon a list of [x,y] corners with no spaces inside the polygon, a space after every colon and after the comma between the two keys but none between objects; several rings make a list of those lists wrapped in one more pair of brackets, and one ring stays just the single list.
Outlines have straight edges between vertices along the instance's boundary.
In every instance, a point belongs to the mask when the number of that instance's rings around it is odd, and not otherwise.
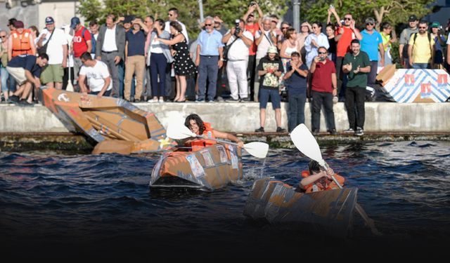
[{"label": "dark-haired man in white T-shirt crouching behind the tipped cardboard boat", "polygon": [[83,66],[79,69],[79,88],[81,88],[82,93],[87,95],[89,91],[89,93],[97,95],[98,98],[109,96],[111,89],[113,89],[113,83],[108,66],[100,60],[92,59],[89,52],[83,53],[81,60]]}]

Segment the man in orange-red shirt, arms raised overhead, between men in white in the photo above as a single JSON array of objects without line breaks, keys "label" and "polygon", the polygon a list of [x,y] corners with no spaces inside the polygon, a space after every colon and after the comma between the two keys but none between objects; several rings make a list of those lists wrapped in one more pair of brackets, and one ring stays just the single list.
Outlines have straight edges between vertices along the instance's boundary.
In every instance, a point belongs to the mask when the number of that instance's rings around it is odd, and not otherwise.
[{"label": "man in orange-red shirt, arms raised overhead, between men in white", "polygon": [[[255,10],[258,11],[259,20],[255,21],[255,15],[253,14]],[[245,30],[252,33],[253,38],[255,38],[256,32],[259,31],[259,22],[261,22],[261,18],[263,17],[263,13],[261,11],[261,8],[259,8],[259,5],[256,2],[251,2],[250,6],[248,7],[247,13],[243,16],[242,20],[245,21]],[[250,83],[248,83],[248,87],[250,88],[250,94],[245,100],[250,100],[249,98],[253,97],[254,93],[254,85],[255,81],[255,62],[256,62],[256,50],[257,45],[255,44],[255,41],[252,43],[252,46],[250,46],[248,50],[248,65],[247,65],[247,77],[250,78]],[[245,101],[244,100],[244,101]]]}]

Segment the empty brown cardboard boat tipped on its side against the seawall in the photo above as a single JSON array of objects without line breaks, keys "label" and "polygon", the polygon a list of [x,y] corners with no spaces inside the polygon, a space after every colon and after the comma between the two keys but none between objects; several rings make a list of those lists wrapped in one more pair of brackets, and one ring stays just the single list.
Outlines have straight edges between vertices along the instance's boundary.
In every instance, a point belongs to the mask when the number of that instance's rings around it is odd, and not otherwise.
[{"label": "empty brown cardboard boat tipped on its side against the seawall", "polygon": [[165,151],[175,144],[155,114],[126,100],[46,87],[39,89],[39,100],[69,130],[79,130],[98,142],[94,154]]}]

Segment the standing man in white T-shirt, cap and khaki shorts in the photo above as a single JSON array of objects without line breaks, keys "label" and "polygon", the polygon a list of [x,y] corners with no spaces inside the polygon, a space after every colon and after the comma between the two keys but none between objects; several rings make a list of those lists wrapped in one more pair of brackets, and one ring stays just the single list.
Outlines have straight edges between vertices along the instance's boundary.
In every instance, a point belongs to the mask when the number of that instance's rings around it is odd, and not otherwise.
[{"label": "standing man in white T-shirt, cap and khaki shorts", "polygon": [[38,36],[37,48],[46,45],[49,65],[42,71],[41,83],[50,88],[63,88],[64,68],[68,67],[68,39],[63,29],[55,28],[55,21],[50,16],[45,19],[46,28]]}]

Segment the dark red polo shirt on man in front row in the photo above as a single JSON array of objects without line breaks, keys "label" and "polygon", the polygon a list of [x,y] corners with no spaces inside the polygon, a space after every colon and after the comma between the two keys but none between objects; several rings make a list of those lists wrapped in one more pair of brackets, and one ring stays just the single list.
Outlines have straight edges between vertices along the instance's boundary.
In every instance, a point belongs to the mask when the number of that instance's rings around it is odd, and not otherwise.
[{"label": "dark red polo shirt on man in front row", "polygon": [[335,63],[328,58],[326,63],[316,63],[316,70],[312,74],[311,90],[321,93],[333,93],[331,74],[336,73]]}]

